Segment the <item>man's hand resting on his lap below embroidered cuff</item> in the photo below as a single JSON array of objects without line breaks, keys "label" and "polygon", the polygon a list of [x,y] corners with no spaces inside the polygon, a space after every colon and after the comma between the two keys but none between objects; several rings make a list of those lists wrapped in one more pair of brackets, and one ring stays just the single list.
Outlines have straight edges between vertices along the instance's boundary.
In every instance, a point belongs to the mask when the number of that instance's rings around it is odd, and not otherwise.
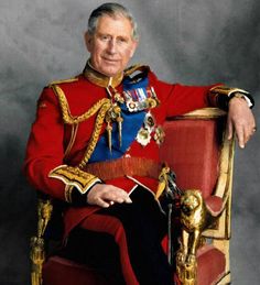
[{"label": "man's hand resting on his lap below embroidered cuff", "polygon": [[96,184],[87,195],[89,205],[108,208],[115,202],[132,202],[129,195],[121,188],[107,184]]}]

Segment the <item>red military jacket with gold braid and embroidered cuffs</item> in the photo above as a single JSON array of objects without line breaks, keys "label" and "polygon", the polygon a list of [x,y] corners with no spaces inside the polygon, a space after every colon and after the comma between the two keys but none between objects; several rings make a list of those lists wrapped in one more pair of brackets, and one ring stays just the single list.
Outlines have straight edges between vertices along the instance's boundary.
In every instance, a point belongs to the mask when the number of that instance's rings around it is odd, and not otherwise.
[{"label": "red military jacket with gold braid and embroidered cuffs", "polygon": [[[159,146],[163,139],[160,128],[165,119],[207,107],[207,95],[212,86],[189,87],[167,84],[159,80],[149,67],[133,67],[126,72],[124,77],[130,76],[137,69],[140,69],[142,77],[145,78],[145,88],[149,91],[152,90],[153,99],[156,97],[155,106],[151,103],[149,108],[143,110],[151,114],[152,129],[148,133],[148,139],[145,133],[142,135],[139,130],[121,158],[134,157],[142,160],[142,162],[158,163]],[[111,92],[106,89],[108,85],[111,87]],[[36,189],[54,198],[69,201],[71,186],[76,186],[79,189],[83,184],[83,191],[87,191],[95,183],[101,180],[86,171],[87,166],[90,165],[89,161],[91,161],[91,155],[90,158],[87,157],[91,153],[89,144],[101,135],[106,135],[108,122],[107,117],[104,117],[101,112],[106,113],[107,109],[104,107],[102,110],[102,106],[105,106],[105,102],[109,103],[110,100],[113,100],[110,97],[118,96],[118,94],[119,97],[122,96],[123,91],[126,91],[126,88],[121,76],[107,78],[89,66],[83,74],[71,80],[54,83],[44,88],[39,100],[36,119],[32,125],[24,164],[26,176]],[[134,88],[133,91],[136,92]],[[142,92],[141,90],[139,94],[141,97],[143,96]],[[128,96],[131,97],[131,92]],[[140,100],[142,101],[142,98],[137,98],[134,103],[139,103]],[[133,111],[132,116],[134,113]],[[128,124],[130,122],[128,121]],[[123,123],[122,129],[127,128]],[[98,128],[99,131],[97,131]],[[143,129],[143,127],[141,125],[140,129]],[[94,133],[94,130],[96,130],[96,133]],[[98,138],[95,139],[95,135]],[[64,169],[65,172],[78,169],[77,166],[80,163],[86,166],[86,169],[83,166],[79,172],[63,175]],[[108,176],[105,183],[121,187],[126,191],[132,190],[137,184],[143,185],[153,193],[156,190],[158,180],[155,177],[137,174],[139,173],[134,173],[133,169],[133,174],[128,175],[127,173],[122,177]],[[99,208],[96,206],[68,207],[64,215],[66,233],[97,209]]]}]

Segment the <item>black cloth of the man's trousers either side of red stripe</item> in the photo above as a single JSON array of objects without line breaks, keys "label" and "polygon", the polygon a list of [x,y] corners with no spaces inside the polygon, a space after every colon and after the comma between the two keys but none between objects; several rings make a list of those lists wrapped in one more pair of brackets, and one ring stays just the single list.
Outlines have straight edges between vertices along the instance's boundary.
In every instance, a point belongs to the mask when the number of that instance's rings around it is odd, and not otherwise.
[{"label": "black cloth of the man's trousers either side of red stripe", "polygon": [[[121,221],[131,265],[141,285],[172,285],[172,268],[161,246],[166,233],[166,216],[160,211],[153,196],[142,187],[134,189],[130,197],[132,204],[116,204],[98,213],[110,215]],[[124,284],[119,249],[108,233],[76,228],[63,254],[95,266],[107,276],[111,275],[111,284]]]}]

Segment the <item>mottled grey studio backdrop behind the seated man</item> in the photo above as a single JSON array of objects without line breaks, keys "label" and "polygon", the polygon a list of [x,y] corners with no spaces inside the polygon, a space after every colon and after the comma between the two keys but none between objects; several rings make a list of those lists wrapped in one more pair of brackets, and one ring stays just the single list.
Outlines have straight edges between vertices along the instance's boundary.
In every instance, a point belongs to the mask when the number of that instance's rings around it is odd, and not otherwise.
[{"label": "mottled grey studio backdrop behind the seated man", "polygon": [[[83,34],[96,0],[0,1],[0,284],[29,285],[35,193],[21,173],[43,86],[78,74],[88,57]],[[161,79],[226,83],[254,96],[259,124],[259,0],[126,0],[141,43],[134,63]],[[259,284],[259,132],[236,152],[231,270],[235,285]]]}]

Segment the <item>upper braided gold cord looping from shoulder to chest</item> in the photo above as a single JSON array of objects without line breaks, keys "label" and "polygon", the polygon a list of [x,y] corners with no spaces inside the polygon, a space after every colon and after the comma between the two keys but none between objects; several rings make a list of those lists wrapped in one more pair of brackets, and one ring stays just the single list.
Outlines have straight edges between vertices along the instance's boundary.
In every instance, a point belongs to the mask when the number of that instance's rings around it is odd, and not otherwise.
[{"label": "upper braided gold cord looping from shoulder to chest", "polygon": [[62,108],[62,113],[63,113],[63,120],[67,124],[77,124],[79,122],[83,122],[83,121],[87,120],[88,118],[90,118],[91,116],[94,116],[104,105],[106,105],[106,103],[110,105],[110,100],[108,98],[104,98],[104,99],[99,100],[98,102],[96,102],[85,113],[74,117],[74,116],[72,116],[72,113],[69,111],[67,99],[66,99],[66,96],[65,96],[64,91],[62,90],[62,88],[58,87],[57,85],[52,85],[52,88],[58,97],[59,105]]}]

